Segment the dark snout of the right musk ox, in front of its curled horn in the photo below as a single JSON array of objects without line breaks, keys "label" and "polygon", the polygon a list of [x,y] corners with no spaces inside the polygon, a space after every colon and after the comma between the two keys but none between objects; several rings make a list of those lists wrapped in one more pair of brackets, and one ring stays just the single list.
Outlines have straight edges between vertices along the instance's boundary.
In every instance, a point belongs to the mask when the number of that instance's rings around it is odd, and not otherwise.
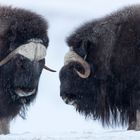
[{"label": "dark snout of the right musk ox, in front of its curled horn", "polygon": [[[77,101],[81,99],[79,94],[84,87],[86,79],[80,78],[74,71],[73,67],[76,63],[70,63],[64,66],[59,73],[60,96],[66,104],[76,105]],[[83,85],[83,87],[82,87]]]}]

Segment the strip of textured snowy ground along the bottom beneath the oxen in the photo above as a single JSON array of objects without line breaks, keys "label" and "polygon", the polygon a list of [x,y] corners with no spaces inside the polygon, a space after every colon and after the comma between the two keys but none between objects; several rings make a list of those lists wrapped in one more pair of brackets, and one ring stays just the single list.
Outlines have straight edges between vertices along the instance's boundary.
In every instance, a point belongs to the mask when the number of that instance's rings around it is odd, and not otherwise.
[{"label": "strip of textured snowy ground along the bottom beneath the oxen", "polygon": [[0,140],[139,140],[140,133],[134,131],[69,131],[53,133],[23,133],[1,136]]}]

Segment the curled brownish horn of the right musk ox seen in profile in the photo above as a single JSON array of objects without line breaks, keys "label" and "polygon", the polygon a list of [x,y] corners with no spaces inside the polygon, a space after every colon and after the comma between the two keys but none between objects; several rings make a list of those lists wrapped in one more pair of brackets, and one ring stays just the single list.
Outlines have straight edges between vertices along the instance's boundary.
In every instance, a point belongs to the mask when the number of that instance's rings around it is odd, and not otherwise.
[{"label": "curled brownish horn of the right musk ox seen in profile", "polygon": [[66,53],[65,58],[64,58],[64,65],[67,65],[70,62],[78,62],[84,68],[84,71],[85,71],[84,74],[75,70],[76,73],[81,78],[88,78],[89,77],[89,75],[91,73],[90,65],[81,56],[79,56],[77,53],[75,53],[73,50],[70,50],[68,53]]}]

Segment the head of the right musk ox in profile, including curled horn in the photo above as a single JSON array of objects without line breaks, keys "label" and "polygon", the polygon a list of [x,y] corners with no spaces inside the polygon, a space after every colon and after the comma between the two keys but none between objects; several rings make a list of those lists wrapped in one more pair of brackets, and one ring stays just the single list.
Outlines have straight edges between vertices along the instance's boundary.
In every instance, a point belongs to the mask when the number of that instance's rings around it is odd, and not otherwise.
[{"label": "head of the right musk ox in profile, including curled horn", "polygon": [[[94,46],[92,48],[94,44],[90,42],[85,44],[84,42],[84,45],[85,48],[82,48],[84,46],[70,47],[70,52],[65,56],[64,67],[60,71],[60,95],[67,104],[74,105],[76,110],[88,116],[93,115],[92,111],[95,108],[100,109],[96,104],[100,99],[97,94],[101,92],[101,84],[105,83],[106,77],[105,75],[95,76],[97,66],[93,64],[92,55],[90,54],[94,52]],[[77,61],[79,56],[81,60]],[[83,61],[88,62],[88,64]]]}]

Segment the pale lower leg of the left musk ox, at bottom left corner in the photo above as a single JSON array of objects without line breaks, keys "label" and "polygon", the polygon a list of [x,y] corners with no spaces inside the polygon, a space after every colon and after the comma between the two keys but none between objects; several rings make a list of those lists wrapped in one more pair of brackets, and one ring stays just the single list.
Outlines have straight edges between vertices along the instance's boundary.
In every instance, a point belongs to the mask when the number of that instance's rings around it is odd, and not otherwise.
[{"label": "pale lower leg of the left musk ox, at bottom left corner", "polygon": [[1,119],[0,120],[0,134],[9,134],[10,130],[10,120],[9,119]]}]

